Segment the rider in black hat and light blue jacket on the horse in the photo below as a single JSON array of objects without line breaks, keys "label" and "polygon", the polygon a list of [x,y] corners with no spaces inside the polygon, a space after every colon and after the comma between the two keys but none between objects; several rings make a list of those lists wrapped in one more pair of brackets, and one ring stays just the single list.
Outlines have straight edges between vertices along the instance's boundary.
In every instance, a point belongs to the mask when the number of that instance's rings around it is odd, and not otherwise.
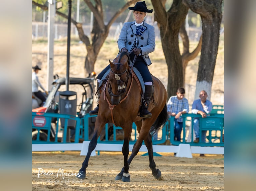
[{"label": "rider in black hat and light blue jacket on the horse", "polygon": [[[137,56],[133,67],[140,72],[143,78],[145,84],[144,100],[146,102],[145,104],[144,101],[142,101],[140,117],[149,118],[152,114],[148,111],[148,104],[154,94],[154,86],[151,74],[148,70],[148,66],[152,64],[148,54],[155,50],[155,28],[146,23],[144,18],[147,13],[152,13],[153,9],[147,9],[145,1],[137,2],[134,7],[129,7],[128,9],[133,11],[134,21],[124,23],[117,45],[119,53],[123,51],[128,52],[132,62],[134,56]],[[110,65],[98,75],[97,89],[103,75],[109,69]],[[99,105],[89,113],[98,114],[98,110]]]}]

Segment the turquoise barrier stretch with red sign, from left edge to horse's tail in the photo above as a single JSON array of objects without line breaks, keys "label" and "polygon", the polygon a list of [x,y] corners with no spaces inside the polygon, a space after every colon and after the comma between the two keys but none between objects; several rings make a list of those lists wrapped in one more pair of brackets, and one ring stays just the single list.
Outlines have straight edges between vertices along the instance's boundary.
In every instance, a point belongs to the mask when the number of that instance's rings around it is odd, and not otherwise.
[{"label": "turquoise barrier stretch with red sign, from left edge to horse's tail", "polygon": [[[90,118],[93,117],[95,117],[95,115],[90,115],[89,113],[85,114],[84,116],[74,116],[61,113],[32,112],[32,131],[37,130],[36,140],[32,140],[32,144],[70,143],[70,137],[67,137],[67,135],[70,135],[70,133],[68,133],[69,130],[72,130],[73,134],[75,134],[75,138],[72,140],[72,143],[89,141],[91,140],[94,131],[94,124],[92,125],[92,123],[90,123]],[[70,123],[70,120],[76,121],[74,123],[75,128],[70,128],[70,126],[68,125]],[[61,125],[60,121],[62,123]],[[53,128],[53,126],[55,128]],[[162,132],[159,133],[161,134],[161,137],[158,138],[159,140],[152,140],[153,144],[160,144],[165,142],[166,127],[167,125],[164,125],[164,127],[160,130]],[[110,128],[113,128],[113,135],[111,140],[109,139]],[[134,134],[131,137],[130,143],[134,144],[138,136],[135,123],[133,123],[132,128]],[[123,129],[121,127],[115,126],[114,124],[110,126],[109,123],[107,123],[102,131],[103,132],[101,136],[98,138],[98,143],[123,144],[123,140],[117,140],[117,131],[123,132]],[[60,134],[62,132],[62,137],[58,137],[59,132]],[[40,139],[40,134],[42,133],[46,133],[47,140]]]}]

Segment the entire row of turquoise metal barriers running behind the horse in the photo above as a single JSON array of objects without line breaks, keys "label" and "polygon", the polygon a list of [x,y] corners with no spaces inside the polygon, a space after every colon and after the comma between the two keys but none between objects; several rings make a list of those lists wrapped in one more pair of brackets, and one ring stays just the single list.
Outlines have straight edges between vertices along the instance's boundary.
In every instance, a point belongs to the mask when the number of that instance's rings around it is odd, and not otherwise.
[{"label": "entire row of turquoise metal barriers running behind the horse", "polygon": [[[173,132],[174,132],[174,117],[170,117],[168,121],[165,123],[165,125],[160,129],[158,133],[161,134],[161,137],[158,137],[159,140],[153,140],[152,143],[154,145],[164,143],[166,140],[170,140],[172,145],[178,145],[180,143],[186,143],[190,144],[191,146],[224,146],[224,142],[222,141],[222,136],[224,132],[224,114],[208,114],[209,116],[206,118],[202,118],[200,114],[190,114],[186,113],[183,114],[181,117],[183,117],[183,138],[182,141],[176,141],[174,140]],[[95,117],[95,115],[86,114],[83,117],[79,116],[73,116],[68,114],[60,114],[60,113],[38,113],[38,112],[32,112],[32,129],[37,129],[38,134],[36,137],[36,140],[32,140],[32,144],[44,144],[44,143],[69,143],[67,142],[67,132],[68,132],[68,121],[69,120],[75,120],[76,126],[75,126],[75,139],[72,140],[72,143],[79,143],[83,140],[89,141],[89,118]],[[203,143],[194,143],[193,138],[191,138],[191,142],[186,142],[186,123],[191,123],[191,137],[193,137],[194,134],[194,118],[198,117],[200,121],[200,131],[202,130],[208,130],[209,135],[207,136],[207,139],[209,142]],[[60,118],[65,119],[65,124],[60,125]],[[55,134],[58,135],[58,132],[60,131],[60,128],[62,128],[62,139],[59,140],[60,137],[55,136],[54,140],[50,139],[50,129],[52,122],[55,122]],[[62,127],[61,127],[62,126]],[[100,137],[98,139],[98,143],[113,143],[113,144],[123,144],[123,140],[116,140],[116,132],[117,130],[122,131],[121,127],[113,125],[113,140],[109,140],[108,136],[108,124],[105,125],[105,139],[100,140]],[[133,123],[132,128],[134,130],[134,138],[130,140],[130,144],[134,144],[137,141],[137,127],[135,123]],[[44,130],[47,132],[47,140],[39,140],[40,131]],[[215,135],[214,135],[215,132]],[[217,136],[217,132],[219,132],[220,135]],[[219,142],[214,142],[213,140],[219,139]],[[144,142],[143,142],[144,144]]]}]

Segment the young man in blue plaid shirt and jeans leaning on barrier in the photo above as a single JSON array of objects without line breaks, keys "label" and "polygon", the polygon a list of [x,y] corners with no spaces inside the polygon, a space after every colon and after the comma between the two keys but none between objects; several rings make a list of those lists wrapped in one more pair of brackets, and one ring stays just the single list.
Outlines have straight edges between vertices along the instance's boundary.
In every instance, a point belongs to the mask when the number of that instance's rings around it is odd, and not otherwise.
[{"label": "young man in blue plaid shirt and jeans leaning on barrier", "polygon": [[179,88],[176,92],[177,95],[171,96],[167,102],[167,113],[169,116],[174,116],[174,140],[180,141],[180,134],[182,130],[182,117],[181,114],[189,111],[187,99],[184,97],[184,88]]}]

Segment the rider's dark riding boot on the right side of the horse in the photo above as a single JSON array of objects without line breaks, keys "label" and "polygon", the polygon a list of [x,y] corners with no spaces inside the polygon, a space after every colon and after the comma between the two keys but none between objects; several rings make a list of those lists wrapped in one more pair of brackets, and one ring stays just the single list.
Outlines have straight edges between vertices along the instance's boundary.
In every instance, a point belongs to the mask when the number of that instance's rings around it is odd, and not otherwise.
[{"label": "rider's dark riding boot on the right side of the horse", "polygon": [[145,94],[144,94],[144,99],[146,101],[146,104],[144,104],[144,102],[142,101],[142,105],[140,108],[140,117],[142,118],[150,118],[152,117],[152,114],[148,111],[148,104],[151,100],[151,97],[154,94],[154,86],[149,86],[149,85],[145,85]]}]

